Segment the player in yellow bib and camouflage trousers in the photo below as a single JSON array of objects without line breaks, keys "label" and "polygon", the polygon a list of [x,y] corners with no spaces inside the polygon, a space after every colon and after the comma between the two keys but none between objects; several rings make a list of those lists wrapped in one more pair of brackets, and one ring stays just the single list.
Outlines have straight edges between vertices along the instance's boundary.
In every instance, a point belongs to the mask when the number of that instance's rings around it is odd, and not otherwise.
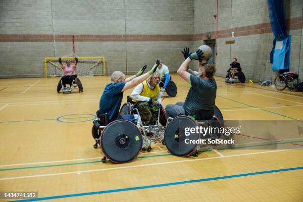
[{"label": "player in yellow bib and camouflage trousers", "polygon": [[[161,60],[160,60],[161,61]],[[147,80],[136,86],[131,94],[133,102],[139,110],[143,125],[155,125],[159,108],[162,108],[159,82],[161,74],[154,72]]]}]

